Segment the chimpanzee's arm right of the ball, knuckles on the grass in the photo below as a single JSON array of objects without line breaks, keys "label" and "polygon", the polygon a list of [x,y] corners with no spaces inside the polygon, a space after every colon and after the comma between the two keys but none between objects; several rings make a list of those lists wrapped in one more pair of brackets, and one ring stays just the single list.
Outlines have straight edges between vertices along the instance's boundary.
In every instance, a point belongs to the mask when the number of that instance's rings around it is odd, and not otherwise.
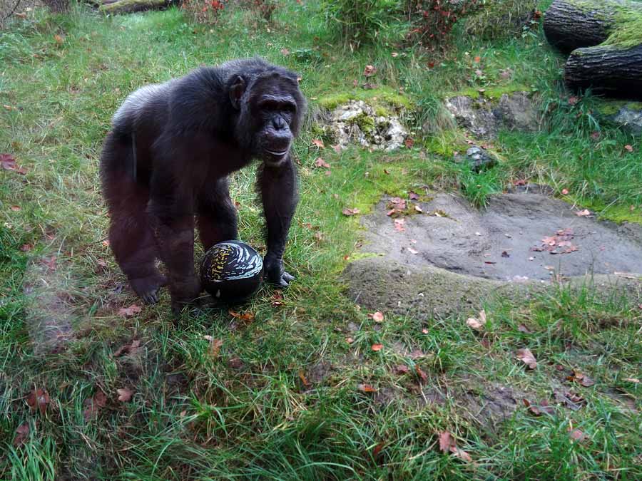
[{"label": "chimpanzee's arm right of the ball, knuckles on the grass", "polygon": [[272,284],[287,287],[294,279],[294,276],[283,269],[283,252],[287,231],[297,207],[295,167],[288,155],[287,160],[277,167],[262,165],[258,175],[258,187],[267,224],[267,254],[263,259],[265,276]]}]

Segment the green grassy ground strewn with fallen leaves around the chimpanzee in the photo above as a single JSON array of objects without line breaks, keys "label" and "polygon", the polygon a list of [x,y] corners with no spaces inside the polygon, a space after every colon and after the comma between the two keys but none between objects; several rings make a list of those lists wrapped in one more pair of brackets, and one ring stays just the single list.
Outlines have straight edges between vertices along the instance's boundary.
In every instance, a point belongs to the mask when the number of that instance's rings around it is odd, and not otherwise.
[{"label": "green grassy ground strewn with fallen leaves around the chimpanzee", "polygon": [[[210,30],[175,10],[106,19],[81,9],[2,33],[0,153],[26,175],[0,170],[0,479],[641,479],[641,306],[591,289],[496,301],[485,306],[482,337],[466,326],[472,312],[375,323],[337,283],[359,241],[357,219],[341,210],[367,212],[384,192],[461,188],[483,204],[528,178],[604,217],[641,219],[639,138],[601,125],[599,100],[569,103],[563,59],[537,27],[509,41],[461,38],[444,58],[385,43],[351,53],[330,43],[312,3],[292,2],[270,31],[243,12]],[[337,154],[302,135],[302,202],[286,252],[297,281],[281,300],[264,287],[244,308],[253,321],[220,310],[173,321],[166,294],[119,314],[137,300],[103,242],[97,163],[109,118],[144,83],[253,55],[299,71],[312,106],[376,65],[377,83],[419,105],[417,142],[392,155]],[[501,133],[502,161],[481,175],[442,157],[466,145],[437,129],[443,95],[515,85],[541,95],[541,133]],[[427,122],[437,133],[422,138]],[[314,167],[320,155],[329,176]],[[252,183],[253,172],[235,175],[233,197],[240,236],[263,247]],[[51,324],[58,330],[44,329]],[[56,337],[64,342],[51,352]],[[140,345],[116,356],[132,341]],[[539,361],[534,371],[514,358],[524,347]],[[567,381],[571,369],[595,384]],[[520,405],[503,422],[474,405],[501,412],[504,393],[539,403],[554,388],[586,403],[539,417]],[[34,389],[48,392],[43,412],[24,399]],[[439,452],[444,430],[473,462]]]}]

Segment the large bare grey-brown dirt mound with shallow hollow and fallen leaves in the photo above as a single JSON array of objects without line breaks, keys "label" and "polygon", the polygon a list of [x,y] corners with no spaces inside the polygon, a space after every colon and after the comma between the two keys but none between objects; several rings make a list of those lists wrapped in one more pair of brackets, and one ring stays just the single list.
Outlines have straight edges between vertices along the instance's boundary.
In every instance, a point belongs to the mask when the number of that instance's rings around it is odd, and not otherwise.
[{"label": "large bare grey-brown dirt mound with shallow hollow and fallen leaves", "polygon": [[481,211],[444,193],[419,207],[396,225],[384,199],[362,219],[362,252],[374,255],[344,274],[360,304],[434,314],[541,291],[551,279],[621,284],[639,296],[638,276],[627,273],[642,273],[641,226],[579,217],[531,193],[498,195]]}]

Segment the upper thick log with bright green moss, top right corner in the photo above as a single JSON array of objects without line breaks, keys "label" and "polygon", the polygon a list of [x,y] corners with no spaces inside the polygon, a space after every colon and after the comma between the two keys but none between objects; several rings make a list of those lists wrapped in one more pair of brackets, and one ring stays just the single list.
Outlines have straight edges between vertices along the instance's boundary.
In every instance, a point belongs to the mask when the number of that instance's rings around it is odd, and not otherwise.
[{"label": "upper thick log with bright green moss, top right corner", "polygon": [[544,17],[549,43],[564,52],[598,45],[623,14],[642,15],[642,3],[630,0],[555,0]]}]

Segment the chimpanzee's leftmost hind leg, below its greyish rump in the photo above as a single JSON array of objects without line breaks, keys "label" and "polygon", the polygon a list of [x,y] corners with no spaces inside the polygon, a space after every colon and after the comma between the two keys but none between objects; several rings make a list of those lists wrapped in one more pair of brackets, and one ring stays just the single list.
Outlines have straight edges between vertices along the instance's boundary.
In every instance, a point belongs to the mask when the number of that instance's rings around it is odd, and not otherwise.
[{"label": "chimpanzee's leftmost hind leg, below its greyish rump", "polygon": [[110,213],[109,244],[133,291],[148,304],[166,282],[156,267],[158,249],[146,212],[149,190],[133,178],[131,140],[109,133],[101,155],[101,180]]}]

